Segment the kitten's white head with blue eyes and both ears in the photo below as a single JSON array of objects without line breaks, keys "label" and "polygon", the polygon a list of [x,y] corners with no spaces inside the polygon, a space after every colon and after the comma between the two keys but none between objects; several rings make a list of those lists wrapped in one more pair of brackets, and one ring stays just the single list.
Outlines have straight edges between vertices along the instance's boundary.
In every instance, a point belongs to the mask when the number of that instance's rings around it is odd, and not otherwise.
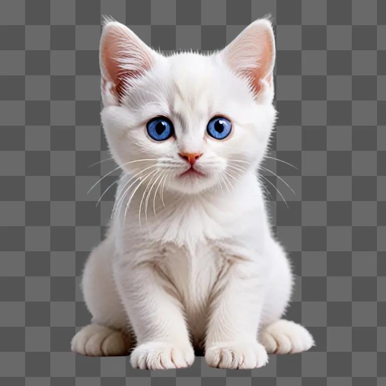
[{"label": "kitten's white head with blue eyes and both ears", "polygon": [[102,121],[124,171],[196,194],[256,168],[275,120],[274,37],[257,20],[223,50],[163,56],[118,23],[100,47]]}]

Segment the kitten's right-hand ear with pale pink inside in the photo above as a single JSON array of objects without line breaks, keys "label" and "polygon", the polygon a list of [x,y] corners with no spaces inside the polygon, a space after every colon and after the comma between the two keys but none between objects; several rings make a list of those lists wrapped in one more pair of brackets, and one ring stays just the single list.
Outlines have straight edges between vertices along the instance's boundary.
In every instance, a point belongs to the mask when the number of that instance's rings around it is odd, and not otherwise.
[{"label": "kitten's right-hand ear with pale pink inside", "polygon": [[275,39],[268,20],[251,23],[221,51],[221,55],[233,71],[249,79],[256,99],[263,95],[273,98]]}]

